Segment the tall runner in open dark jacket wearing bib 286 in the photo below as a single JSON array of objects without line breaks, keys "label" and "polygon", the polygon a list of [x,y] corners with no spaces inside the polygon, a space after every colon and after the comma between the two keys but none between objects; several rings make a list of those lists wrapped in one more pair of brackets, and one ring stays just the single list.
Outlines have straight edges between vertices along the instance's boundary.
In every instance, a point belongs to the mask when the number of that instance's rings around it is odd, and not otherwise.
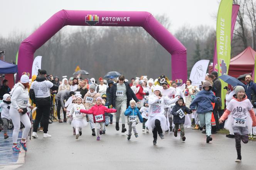
[{"label": "tall runner in open dark jacket wearing bib 286", "polygon": [[129,83],[125,82],[125,76],[120,75],[118,83],[115,83],[110,88],[109,93],[109,106],[116,108],[116,130],[119,130],[119,119],[120,115],[122,118],[122,133],[126,131],[125,128],[125,115],[127,106],[130,105],[131,99],[135,100],[138,104],[140,103],[132,91]]}]

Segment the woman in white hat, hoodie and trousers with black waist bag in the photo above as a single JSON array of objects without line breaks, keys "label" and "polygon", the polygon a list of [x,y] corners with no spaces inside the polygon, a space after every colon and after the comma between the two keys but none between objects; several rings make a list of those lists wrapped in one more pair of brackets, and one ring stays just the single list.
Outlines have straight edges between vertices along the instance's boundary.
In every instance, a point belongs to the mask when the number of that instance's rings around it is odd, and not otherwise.
[{"label": "woman in white hat, hoodie and trousers with black waist bag", "polygon": [[10,116],[12,118],[12,123],[14,126],[12,134],[13,152],[20,152],[19,147],[17,147],[17,140],[20,131],[20,122],[24,124],[25,129],[22,132],[22,139],[19,144],[25,151],[27,151],[26,139],[29,135],[29,130],[31,128],[31,122],[29,120],[29,116],[27,115],[27,107],[29,107],[30,109],[33,108],[32,106],[30,106],[29,103],[28,88],[29,77],[27,75],[22,75],[20,78],[20,82],[15,84],[12,91],[10,92],[12,102],[12,105],[10,107]]}]

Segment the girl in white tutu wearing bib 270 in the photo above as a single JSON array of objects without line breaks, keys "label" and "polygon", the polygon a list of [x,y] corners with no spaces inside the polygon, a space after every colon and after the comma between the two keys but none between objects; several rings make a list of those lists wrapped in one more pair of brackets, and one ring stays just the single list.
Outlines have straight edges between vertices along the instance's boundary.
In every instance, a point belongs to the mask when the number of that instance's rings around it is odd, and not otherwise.
[{"label": "girl in white tutu wearing bib 270", "polygon": [[73,127],[73,133],[76,133],[76,139],[79,138],[79,136],[82,135],[82,129],[85,127],[88,123],[84,120],[85,114],[82,114],[80,112],[80,109],[85,109],[84,105],[82,104],[82,97],[77,96],[76,97],[76,104],[71,108],[69,112],[69,116],[72,115],[73,120],[71,122],[71,126]]}]

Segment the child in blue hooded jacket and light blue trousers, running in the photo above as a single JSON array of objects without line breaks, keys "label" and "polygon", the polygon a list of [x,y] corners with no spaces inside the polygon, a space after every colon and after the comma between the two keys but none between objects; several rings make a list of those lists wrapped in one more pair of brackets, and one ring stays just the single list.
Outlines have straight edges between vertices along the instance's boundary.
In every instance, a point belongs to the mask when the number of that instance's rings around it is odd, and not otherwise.
[{"label": "child in blue hooded jacket and light blue trousers, running", "polygon": [[212,141],[211,137],[211,117],[212,117],[212,102],[217,103],[221,101],[221,98],[214,96],[212,84],[209,81],[205,81],[202,85],[202,91],[199,91],[195,96],[195,99],[190,104],[190,109],[195,111],[197,108],[197,114],[199,117],[199,129],[202,130],[203,126],[206,126],[206,143]]}]

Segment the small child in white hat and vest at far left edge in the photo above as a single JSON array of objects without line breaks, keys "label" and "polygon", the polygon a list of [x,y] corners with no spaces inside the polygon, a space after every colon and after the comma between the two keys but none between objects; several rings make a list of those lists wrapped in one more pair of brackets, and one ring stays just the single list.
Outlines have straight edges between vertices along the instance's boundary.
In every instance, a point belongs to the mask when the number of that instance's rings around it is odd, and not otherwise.
[{"label": "small child in white hat and vest at far left edge", "polygon": [[[11,116],[9,114],[11,106],[11,97],[10,94],[3,95],[3,102],[0,103],[0,107],[2,108],[1,118],[3,121],[3,138],[7,139],[9,136],[7,134],[7,127],[10,123]],[[0,127],[1,128],[1,127]]]}]

